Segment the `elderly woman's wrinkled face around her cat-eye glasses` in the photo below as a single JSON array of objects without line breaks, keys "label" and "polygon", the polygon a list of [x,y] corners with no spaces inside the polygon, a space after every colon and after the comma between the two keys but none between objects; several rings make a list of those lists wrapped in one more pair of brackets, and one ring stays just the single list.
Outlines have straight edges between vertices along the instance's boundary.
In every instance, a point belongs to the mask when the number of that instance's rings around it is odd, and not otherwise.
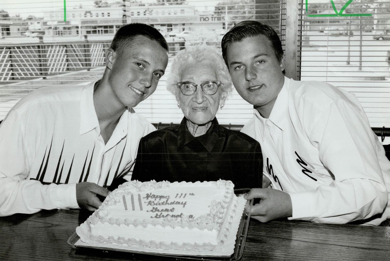
[{"label": "elderly woman's wrinkled face around her cat-eye glasses", "polygon": [[[202,84],[203,82],[218,80],[215,68],[207,63],[189,64],[181,73],[180,82],[191,82]],[[193,95],[184,95],[180,89],[177,89],[177,99],[180,103],[184,116],[195,124],[206,124],[214,119],[221,101],[222,89],[213,95],[207,95],[200,86]]]}]

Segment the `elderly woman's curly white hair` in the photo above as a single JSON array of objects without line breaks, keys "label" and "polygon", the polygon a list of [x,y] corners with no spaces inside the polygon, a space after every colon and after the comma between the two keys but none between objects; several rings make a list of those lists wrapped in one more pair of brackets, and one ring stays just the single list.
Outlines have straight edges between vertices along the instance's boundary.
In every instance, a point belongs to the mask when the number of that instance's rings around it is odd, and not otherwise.
[{"label": "elderly woman's curly white hair", "polygon": [[232,78],[230,77],[229,70],[227,69],[222,55],[216,50],[216,48],[207,45],[201,45],[196,47],[190,47],[181,50],[176,54],[170,74],[167,79],[167,90],[172,94],[177,95],[177,82],[179,82],[183,69],[189,64],[207,63],[215,68],[217,79],[221,82],[220,88],[226,91],[229,95],[233,89]]}]

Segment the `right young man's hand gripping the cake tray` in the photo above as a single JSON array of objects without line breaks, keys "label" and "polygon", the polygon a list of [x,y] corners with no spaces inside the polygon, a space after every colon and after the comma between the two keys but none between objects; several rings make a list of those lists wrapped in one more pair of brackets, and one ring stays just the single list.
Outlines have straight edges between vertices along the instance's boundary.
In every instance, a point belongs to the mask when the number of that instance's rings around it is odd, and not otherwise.
[{"label": "right young man's hand gripping the cake tray", "polygon": [[271,188],[252,188],[246,200],[260,198],[260,202],[252,206],[251,218],[260,222],[268,222],[278,218],[288,218],[293,215],[293,206],[289,194]]}]

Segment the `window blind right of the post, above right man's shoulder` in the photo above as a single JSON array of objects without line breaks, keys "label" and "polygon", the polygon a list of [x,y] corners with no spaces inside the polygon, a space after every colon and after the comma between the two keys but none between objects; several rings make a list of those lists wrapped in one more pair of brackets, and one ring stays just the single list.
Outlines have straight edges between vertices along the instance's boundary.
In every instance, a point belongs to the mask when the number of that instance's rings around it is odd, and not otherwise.
[{"label": "window blind right of the post, above right man's shoulder", "polygon": [[390,3],[355,0],[342,10],[319,2],[300,0],[298,79],[355,94],[371,127],[389,127]]}]

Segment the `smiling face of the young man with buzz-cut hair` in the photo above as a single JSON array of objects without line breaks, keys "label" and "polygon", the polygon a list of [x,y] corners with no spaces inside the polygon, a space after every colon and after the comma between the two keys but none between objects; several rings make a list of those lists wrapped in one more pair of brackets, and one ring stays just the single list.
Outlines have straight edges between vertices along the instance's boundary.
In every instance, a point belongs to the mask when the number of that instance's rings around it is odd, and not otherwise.
[{"label": "smiling face of the young man with buzz-cut hair", "polygon": [[115,99],[122,106],[135,107],[156,90],[168,64],[168,53],[156,41],[136,36],[120,55],[109,49],[106,64]]}]

